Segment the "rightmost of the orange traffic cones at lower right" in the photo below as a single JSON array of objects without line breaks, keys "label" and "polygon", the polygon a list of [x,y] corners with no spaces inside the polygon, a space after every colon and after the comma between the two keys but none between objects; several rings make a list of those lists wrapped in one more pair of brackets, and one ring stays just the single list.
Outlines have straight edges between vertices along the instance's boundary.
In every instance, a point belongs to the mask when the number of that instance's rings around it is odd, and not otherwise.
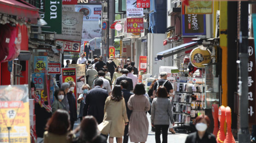
[{"label": "rightmost of the orange traffic cones at lower right", "polygon": [[226,122],[227,122],[227,135],[225,138],[224,143],[236,143],[233,134],[232,134],[232,130],[231,130],[231,109],[230,107],[226,107]]}]

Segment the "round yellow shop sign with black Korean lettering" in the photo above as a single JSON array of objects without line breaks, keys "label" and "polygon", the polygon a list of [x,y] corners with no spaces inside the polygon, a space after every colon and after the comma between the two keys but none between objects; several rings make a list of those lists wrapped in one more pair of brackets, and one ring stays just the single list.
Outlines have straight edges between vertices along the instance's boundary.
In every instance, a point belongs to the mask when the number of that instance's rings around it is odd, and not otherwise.
[{"label": "round yellow shop sign with black Korean lettering", "polygon": [[199,47],[192,50],[190,53],[190,61],[197,68],[205,68],[203,64],[209,64],[211,61],[211,52],[209,49],[202,50]]}]

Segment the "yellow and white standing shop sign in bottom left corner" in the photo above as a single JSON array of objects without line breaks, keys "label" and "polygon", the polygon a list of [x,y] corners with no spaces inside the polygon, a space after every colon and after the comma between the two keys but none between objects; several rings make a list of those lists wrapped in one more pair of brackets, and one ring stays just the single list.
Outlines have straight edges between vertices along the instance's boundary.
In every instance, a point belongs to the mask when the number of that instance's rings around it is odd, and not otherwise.
[{"label": "yellow and white standing shop sign in bottom left corner", "polygon": [[0,142],[30,143],[28,85],[0,86],[0,97]]}]

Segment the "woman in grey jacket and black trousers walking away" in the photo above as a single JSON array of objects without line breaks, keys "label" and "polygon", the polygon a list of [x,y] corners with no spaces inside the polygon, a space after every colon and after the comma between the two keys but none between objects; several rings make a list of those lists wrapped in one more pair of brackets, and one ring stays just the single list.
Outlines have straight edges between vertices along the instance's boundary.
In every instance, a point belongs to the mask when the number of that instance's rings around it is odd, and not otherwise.
[{"label": "woman in grey jacket and black trousers walking away", "polygon": [[167,98],[168,93],[164,86],[157,89],[157,98],[152,101],[151,107],[151,126],[155,127],[156,143],[161,143],[160,135],[162,131],[163,142],[167,143],[169,121],[174,125],[172,105],[170,99]]}]

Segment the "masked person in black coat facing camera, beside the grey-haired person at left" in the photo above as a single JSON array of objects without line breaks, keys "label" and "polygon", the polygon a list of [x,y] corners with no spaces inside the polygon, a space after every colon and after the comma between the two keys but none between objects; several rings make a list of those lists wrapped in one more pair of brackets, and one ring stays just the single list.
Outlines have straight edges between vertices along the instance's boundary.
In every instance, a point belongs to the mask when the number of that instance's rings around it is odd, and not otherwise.
[{"label": "masked person in black coat facing camera, beside the grey-haired person at left", "polygon": [[68,83],[70,84],[70,92],[67,93],[67,98],[70,105],[70,130],[73,130],[74,123],[77,120],[76,97],[74,95],[76,83],[72,81],[69,81]]}]

